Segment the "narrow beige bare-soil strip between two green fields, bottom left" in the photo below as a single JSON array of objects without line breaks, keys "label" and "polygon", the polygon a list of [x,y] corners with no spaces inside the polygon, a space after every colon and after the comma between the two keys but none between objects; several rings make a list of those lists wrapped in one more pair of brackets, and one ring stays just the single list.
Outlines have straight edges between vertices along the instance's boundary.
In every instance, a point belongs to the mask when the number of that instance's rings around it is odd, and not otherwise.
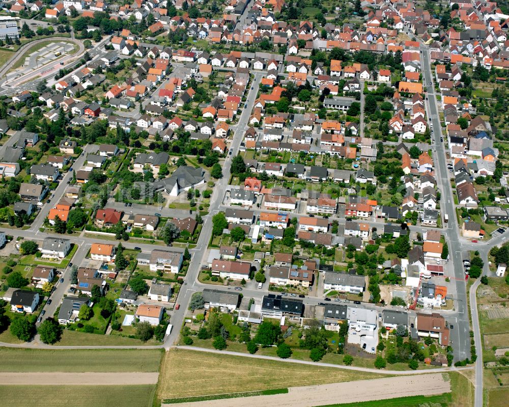
[{"label": "narrow beige bare-soil strip between two green fields, bottom left", "polygon": [[159,373],[0,373],[0,383],[9,385],[152,385]]}]

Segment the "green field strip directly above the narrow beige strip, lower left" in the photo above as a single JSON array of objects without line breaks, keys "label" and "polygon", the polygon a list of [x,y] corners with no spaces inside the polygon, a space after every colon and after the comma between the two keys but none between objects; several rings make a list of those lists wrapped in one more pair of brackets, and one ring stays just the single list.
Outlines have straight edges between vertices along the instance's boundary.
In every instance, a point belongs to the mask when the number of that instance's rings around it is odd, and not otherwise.
[{"label": "green field strip directly above the narrow beige strip, lower left", "polygon": [[0,348],[0,360],[2,372],[157,372],[161,351]]}]

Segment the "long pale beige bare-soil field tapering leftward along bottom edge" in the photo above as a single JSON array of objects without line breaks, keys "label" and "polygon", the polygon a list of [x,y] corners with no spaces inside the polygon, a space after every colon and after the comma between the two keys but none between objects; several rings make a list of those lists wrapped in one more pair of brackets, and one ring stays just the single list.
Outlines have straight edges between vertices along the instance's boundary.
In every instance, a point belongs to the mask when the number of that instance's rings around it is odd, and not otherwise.
[{"label": "long pale beige bare-soil field tapering leftward along bottom edge", "polygon": [[441,373],[385,377],[320,386],[291,387],[288,394],[239,397],[194,403],[162,404],[171,407],[313,407],[334,403],[382,400],[396,397],[449,393],[450,382]]}]

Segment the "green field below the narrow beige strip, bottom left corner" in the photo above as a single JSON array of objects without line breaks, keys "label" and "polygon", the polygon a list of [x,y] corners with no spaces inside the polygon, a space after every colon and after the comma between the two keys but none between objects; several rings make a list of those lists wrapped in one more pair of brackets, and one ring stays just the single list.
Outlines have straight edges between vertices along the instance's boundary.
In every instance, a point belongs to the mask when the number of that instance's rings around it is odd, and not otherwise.
[{"label": "green field below the narrow beige strip, bottom left corner", "polygon": [[10,407],[149,407],[154,391],[154,385],[129,386],[129,391],[125,386],[0,386],[0,399]]}]

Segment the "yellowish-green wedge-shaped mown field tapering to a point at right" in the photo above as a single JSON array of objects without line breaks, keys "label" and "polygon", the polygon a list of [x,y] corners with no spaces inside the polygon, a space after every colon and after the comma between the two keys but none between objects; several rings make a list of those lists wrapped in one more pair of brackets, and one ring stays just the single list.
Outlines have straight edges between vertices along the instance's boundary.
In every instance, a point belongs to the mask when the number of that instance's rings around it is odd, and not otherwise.
[{"label": "yellowish-green wedge-shaped mown field tapering to a point at right", "polygon": [[[176,371],[179,373],[175,374]],[[166,399],[377,377],[380,375],[376,373],[342,371],[177,349],[169,350],[164,356],[157,397]]]}]

